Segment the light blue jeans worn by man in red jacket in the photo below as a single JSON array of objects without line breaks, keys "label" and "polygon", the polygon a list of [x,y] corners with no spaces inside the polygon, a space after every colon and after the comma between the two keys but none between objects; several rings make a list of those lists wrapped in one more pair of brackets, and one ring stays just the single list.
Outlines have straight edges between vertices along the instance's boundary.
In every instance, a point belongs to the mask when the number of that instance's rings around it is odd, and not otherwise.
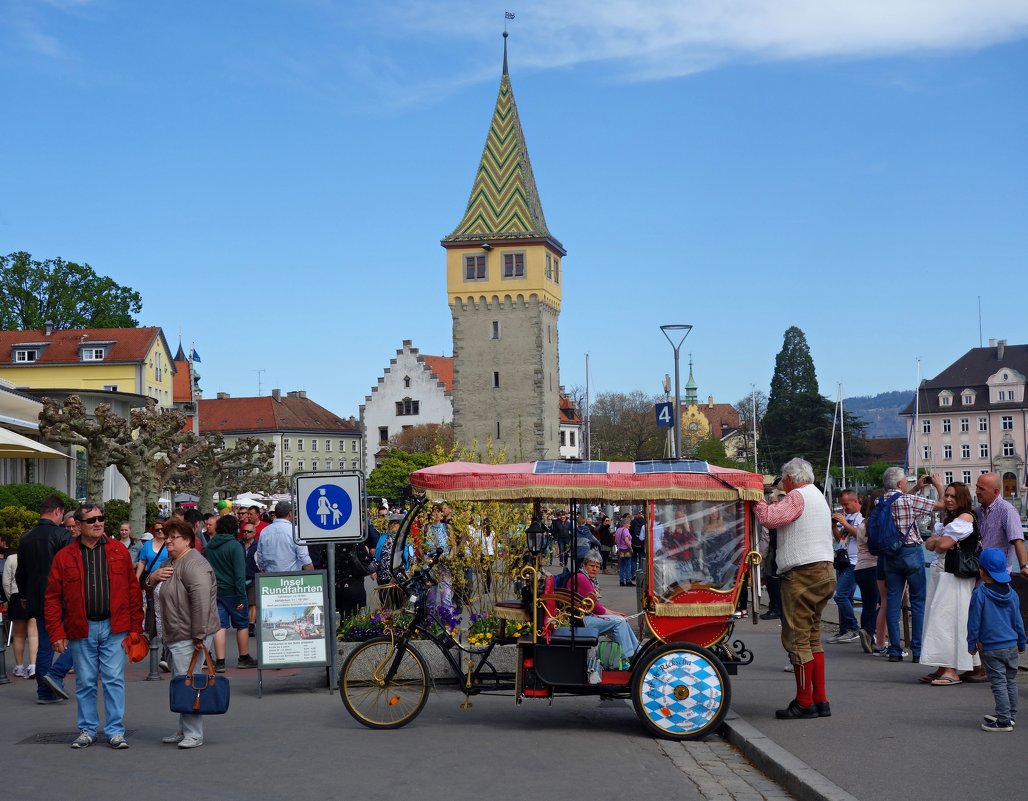
[{"label": "light blue jeans worn by man in red jacket", "polygon": [[125,652],[121,641],[127,631],[111,631],[111,621],[90,620],[84,640],[71,640],[75,660],[75,703],[78,705],[78,730],[97,736],[100,709],[97,703],[97,679],[104,687],[104,733],[108,738],[124,736]]}]

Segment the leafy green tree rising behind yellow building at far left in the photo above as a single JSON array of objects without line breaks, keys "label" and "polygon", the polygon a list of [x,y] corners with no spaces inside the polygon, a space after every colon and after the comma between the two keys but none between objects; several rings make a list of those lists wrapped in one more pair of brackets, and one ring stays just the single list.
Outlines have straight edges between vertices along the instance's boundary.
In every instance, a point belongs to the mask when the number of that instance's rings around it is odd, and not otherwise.
[{"label": "leafy green tree rising behind yellow building at far left", "polygon": [[0,256],[0,330],[135,328],[139,293],[88,264],[39,261],[24,251]]}]

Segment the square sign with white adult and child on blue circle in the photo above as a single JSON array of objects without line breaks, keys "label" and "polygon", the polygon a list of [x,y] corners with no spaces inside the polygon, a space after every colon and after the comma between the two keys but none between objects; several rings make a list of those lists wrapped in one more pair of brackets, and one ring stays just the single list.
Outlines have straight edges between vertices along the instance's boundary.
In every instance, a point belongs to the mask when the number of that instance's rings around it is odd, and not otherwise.
[{"label": "square sign with white adult and child on blue circle", "polygon": [[364,476],[361,473],[294,474],[296,538],[305,542],[364,539]]}]

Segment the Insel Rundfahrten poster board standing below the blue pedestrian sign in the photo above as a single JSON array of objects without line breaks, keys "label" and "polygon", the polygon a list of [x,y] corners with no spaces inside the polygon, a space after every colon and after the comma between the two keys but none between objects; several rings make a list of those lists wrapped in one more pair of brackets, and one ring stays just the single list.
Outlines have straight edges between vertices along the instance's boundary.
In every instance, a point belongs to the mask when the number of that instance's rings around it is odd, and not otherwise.
[{"label": "Insel Rundfahrten poster board standing below the blue pedestrian sign", "polygon": [[329,664],[326,571],[258,573],[258,667],[323,667]]}]

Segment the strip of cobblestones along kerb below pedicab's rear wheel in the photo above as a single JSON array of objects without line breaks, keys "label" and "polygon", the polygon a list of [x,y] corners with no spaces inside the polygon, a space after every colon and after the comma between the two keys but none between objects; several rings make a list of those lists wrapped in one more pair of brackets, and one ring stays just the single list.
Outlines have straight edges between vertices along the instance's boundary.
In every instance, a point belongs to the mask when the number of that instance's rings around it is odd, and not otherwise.
[{"label": "strip of cobblestones along kerb below pedicab's rear wheel", "polygon": [[793,801],[785,790],[754,767],[734,745],[706,741],[658,740],[667,758],[708,801]]}]

